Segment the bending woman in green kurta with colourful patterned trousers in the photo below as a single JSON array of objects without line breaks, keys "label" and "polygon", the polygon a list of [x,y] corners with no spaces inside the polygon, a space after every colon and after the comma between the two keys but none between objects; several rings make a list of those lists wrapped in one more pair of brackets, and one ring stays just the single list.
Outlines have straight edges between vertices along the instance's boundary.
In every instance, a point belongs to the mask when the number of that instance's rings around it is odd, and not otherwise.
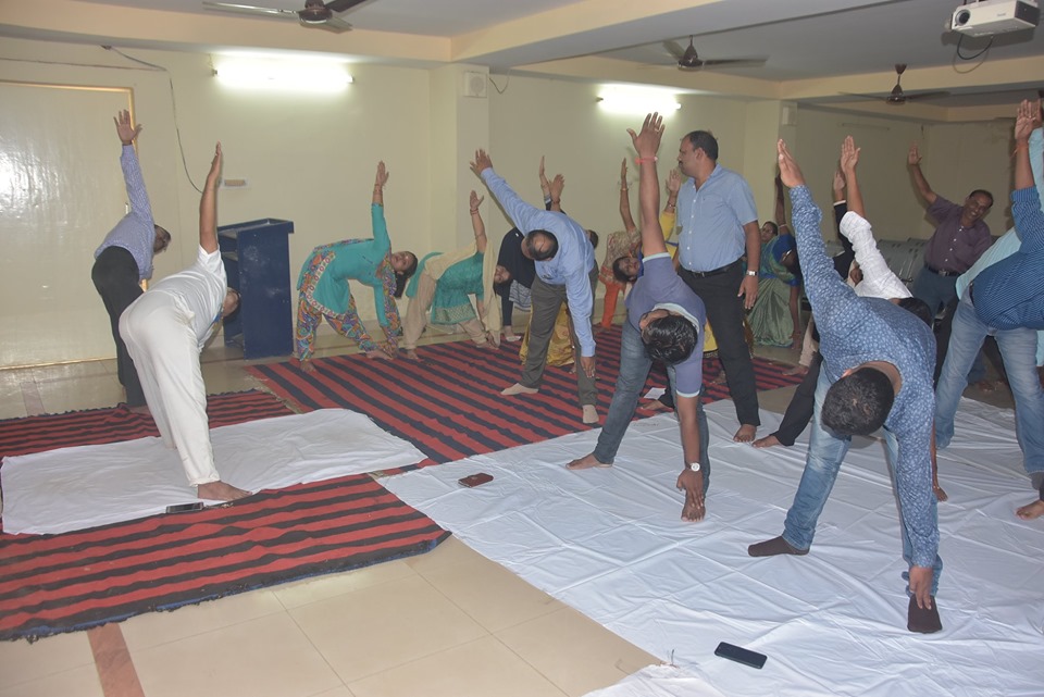
[{"label": "bending woman in green kurta with colourful patterned trousers", "polygon": [[[417,271],[417,257],[409,251],[391,252],[384,220],[384,185],[387,181],[384,162],[380,162],[370,207],[373,238],[346,239],[316,247],[301,267],[297,279],[296,344],[297,357],[306,373],[315,370],[309,361],[323,318],[337,332],[357,341],[370,358],[391,359],[397,353],[396,341],[401,328],[395,299],[402,296],[406,281]],[[384,347],[371,338],[359,320],[349,279],[374,289],[377,322],[387,338]]]}]

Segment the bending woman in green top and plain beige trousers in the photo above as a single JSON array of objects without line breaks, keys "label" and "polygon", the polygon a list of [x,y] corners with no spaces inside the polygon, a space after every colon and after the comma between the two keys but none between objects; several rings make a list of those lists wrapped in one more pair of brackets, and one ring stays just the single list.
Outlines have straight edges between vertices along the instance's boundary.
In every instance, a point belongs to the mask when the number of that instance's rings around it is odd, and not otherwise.
[{"label": "bending woman in green top and plain beige trousers", "polygon": [[[486,288],[484,284],[484,269],[486,266],[486,228],[478,212],[483,199],[474,191],[471,192],[471,225],[475,234],[475,245],[459,250],[452,254],[434,252],[425,257],[418,274],[410,282],[406,295],[410,298],[410,307],[406,312],[403,323],[402,348],[406,357],[418,360],[417,340],[427,324],[427,309],[431,308],[432,324],[459,324],[477,346],[496,348],[499,332],[492,333],[487,327],[499,327],[499,318],[490,320],[487,316],[484,303]],[[492,259],[492,257],[490,257]],[[492,283],[507,283],[510,276],[504,266],[496,266]],[[478,313],[471,304],[471,297],[475,296]],[[496,302],[489,303],[489,310],[497,310]],[[480,320],[480,318],[482,318]],[[489,324],[494,322],[494,324]],[[493,338],[496,334],[496,338]],[[492,340],[490,340],[492,339]]]}]

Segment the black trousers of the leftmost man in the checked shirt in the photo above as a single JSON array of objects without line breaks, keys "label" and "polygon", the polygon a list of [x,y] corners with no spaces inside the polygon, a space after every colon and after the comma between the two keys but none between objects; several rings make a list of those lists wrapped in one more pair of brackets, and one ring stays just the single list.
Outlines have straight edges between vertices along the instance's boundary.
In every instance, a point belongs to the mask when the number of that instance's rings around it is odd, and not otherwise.
[{"label": "black trousers of the leftmost man in the checked shirt", "polygon": [[134,361],[127,353],[127,347],[120,338],[120,315],[141,295],[138,285],[138,264],[134,256],[123,247],[107,247],[98,254],[90,270],[90,279],[105,303],[109,322],[112,325],[112,338],[116,343],[116,374],[120,384],[127,390],[127,406],[145,404],[145,393],[138,382]]}]

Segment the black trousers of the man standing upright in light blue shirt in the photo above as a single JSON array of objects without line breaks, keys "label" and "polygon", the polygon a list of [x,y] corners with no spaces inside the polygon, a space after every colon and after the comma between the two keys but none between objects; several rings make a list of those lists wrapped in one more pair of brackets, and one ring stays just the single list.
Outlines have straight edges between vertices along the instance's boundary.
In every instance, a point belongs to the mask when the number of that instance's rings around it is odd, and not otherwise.
[{"label": "black trousers of the man standing upright in light blue shirt", "polygon": [[724,271],[706,276],[681,269],[679,275],[704,301],[707,321],[718,341],[718,358],[725,369],[725,381],[736,406],[736,418],[741,424],[761,425],[754,364],[743,333],[743,299],[736,297],[744,277],[744,264],[736,260]]}]

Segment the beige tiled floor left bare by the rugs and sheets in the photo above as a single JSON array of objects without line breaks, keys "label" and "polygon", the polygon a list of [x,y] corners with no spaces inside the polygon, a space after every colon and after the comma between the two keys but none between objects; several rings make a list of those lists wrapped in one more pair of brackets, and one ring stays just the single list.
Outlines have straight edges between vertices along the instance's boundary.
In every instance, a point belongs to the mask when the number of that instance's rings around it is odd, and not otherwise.
[{"label": "beige tiled floor left bare by the rugs and sheets", "polygon": [[[433,340],[447,338],[463,337]],[[351,350],[321,340],[320,354]],[[759,353],[797,360],[785,349]],[[245,365],[235,350],[208,348],[208,389],[258,387]],[[762,393],[761,407],[782,411],[792,393]],[[0,370],[4,419],[121,399],[112,361]],[[1005,388],[987,400],[1010,406]],[[449,538],[353,572],[0,643],[0,697],[574,696],[658,662]]]}]

